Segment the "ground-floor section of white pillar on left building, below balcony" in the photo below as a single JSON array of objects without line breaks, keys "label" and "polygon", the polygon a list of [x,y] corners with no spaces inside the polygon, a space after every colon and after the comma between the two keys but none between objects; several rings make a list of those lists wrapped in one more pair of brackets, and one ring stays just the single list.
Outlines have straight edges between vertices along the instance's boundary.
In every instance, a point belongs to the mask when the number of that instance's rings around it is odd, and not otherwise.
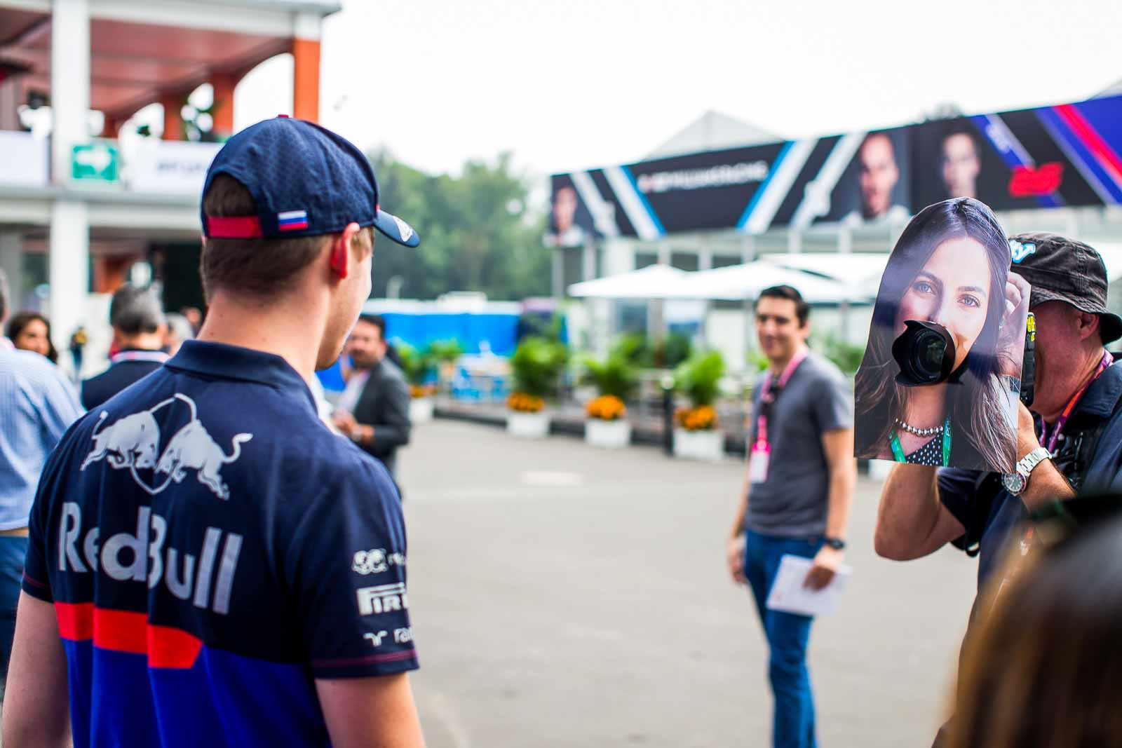
[{"label": "ground-floor section of white pillar on left building, below balcony", "polygon": [[50,210],[48,316],[55,348],[66,350],[85,320],[90,289],[90,216],[84,202],[57,200]]}]

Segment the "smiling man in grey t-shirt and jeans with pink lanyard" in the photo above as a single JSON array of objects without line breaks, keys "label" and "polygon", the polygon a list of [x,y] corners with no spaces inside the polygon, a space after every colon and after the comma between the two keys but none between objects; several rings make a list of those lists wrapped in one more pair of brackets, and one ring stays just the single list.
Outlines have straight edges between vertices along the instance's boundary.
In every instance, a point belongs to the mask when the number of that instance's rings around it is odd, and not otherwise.
[{"label": "smiling man in grey t-shirt and jeans with pink lanyard", "polygon": [[752,588],[771,649],[776,748],[816,745],[807,672],[812,619],[769,610],[767,594],[787,554],[813,558],[808,587],[834,579],[857,478],[852,391],[837,367],[807,349],[809,313],[790,286],[766,288],[756,299],[769,367],[755,388],[748,475],[726,551],[733,579]]}]

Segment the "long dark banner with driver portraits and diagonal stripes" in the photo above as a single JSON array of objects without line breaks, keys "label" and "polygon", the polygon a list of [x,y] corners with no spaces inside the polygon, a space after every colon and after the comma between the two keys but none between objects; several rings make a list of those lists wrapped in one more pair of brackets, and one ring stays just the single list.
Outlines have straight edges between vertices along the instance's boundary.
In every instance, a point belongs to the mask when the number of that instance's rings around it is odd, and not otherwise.
[{"label": "long dark banner with driver portraits and diagonal stripes", "polygon": [[559,174],[548,241],[903,225],[931,203],[1122,204],[1122,96]]}]

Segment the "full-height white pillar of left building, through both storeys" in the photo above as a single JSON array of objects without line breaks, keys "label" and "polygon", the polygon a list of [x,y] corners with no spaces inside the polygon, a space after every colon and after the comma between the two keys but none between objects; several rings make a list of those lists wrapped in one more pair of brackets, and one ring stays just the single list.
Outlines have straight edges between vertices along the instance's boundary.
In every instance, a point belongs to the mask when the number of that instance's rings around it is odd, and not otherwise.
[{"label": "full-height white pillar of left building, through both storeys", "polygon": [[[54,0],[50,17],[52,175],[66,184],[75,145],[90,141],[89,0]],[[90,219],[82,201],[63,197],[50,211],[50,297],[48,311],[55,347],[66,349],[71,333],[84,322],[90,288]]]}]

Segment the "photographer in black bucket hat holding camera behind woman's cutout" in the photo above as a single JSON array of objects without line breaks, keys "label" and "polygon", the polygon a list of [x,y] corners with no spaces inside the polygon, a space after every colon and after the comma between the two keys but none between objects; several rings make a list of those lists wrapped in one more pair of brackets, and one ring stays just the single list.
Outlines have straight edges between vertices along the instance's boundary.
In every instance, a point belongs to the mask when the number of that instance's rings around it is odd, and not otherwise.
[{"label": "photographer in black bucket hat holding camera behind woman's cutout", "polygon": [[[1011,241],[1013,273],[1031,284],[1037,317],[1036,415],[1021,405],[1017,472],[896,465],[881,493],[874,541],[880,555],[896,561],[954,543],[980,556],[980,588],[1026,507],[1107,491],[1122,477],[1122,368],[1110,366],[1103,349],[1122,335],[1122,320],[1106,311],[1102,258],[1055,234]],[[1020,294],[1010,295],[1015,304]]]}]

